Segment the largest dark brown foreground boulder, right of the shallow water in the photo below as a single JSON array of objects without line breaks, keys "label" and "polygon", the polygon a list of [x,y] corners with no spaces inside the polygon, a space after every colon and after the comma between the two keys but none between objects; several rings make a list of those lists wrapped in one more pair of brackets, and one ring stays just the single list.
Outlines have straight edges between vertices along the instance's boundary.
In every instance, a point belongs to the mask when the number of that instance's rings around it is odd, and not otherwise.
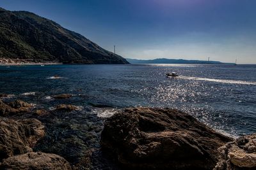
[{"label": "largest dark brown foreground boulder, right of the shallow water", "polygon": [[129,108],[106,120],[101,145],[124,169],[212,169],[231,140],[177,110]]}]

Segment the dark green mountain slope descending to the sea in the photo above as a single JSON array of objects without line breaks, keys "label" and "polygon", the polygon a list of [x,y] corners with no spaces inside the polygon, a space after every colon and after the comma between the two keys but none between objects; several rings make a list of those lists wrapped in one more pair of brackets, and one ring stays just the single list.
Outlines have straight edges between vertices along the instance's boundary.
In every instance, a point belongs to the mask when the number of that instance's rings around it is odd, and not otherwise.
[{"label": "dark green mountain slope descending to the sea", "polygon": [[33,62],[128,64],[81,34],[28,11],[0,8],[0,58]]}]

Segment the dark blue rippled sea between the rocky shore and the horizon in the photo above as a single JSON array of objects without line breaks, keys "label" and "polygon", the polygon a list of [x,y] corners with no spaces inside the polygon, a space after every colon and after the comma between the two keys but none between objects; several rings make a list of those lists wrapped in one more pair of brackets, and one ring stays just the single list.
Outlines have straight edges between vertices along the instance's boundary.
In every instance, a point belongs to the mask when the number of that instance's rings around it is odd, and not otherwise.
[{"label": "dark blue rippled sea between the rocky shore and the horizon", "polygon": [[[180,77],[166,78],[170,71]],[[39,108],[68,103],[92,108],[102,117],[129,106],[178,108],[232,136],[256,131],[255,92],[255,65],[0,67],[0,94],[15,95],[10,100],[19,98]],[[74,96],[60,101],[51,98],[55,94]]]}]

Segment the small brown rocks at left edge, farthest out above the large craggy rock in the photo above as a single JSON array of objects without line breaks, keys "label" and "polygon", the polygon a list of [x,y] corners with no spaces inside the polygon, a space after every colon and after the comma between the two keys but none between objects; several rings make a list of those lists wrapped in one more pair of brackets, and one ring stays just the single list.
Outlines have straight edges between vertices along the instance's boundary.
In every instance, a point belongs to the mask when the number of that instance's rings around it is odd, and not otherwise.
[{"label": "small brown rocks at left edge, farthest out above the large craggy rock", "polygon": [[0,116],[2,117],[28,113],[31,108],[33,105],[24,101],[16,100],[11,103],[4,103],[0,100]]}]

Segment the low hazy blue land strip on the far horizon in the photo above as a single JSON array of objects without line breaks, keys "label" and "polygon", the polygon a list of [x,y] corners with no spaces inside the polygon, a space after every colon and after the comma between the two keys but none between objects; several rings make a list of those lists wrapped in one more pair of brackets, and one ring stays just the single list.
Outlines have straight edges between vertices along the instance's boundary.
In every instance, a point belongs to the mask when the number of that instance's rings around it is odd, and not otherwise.
[{"label": "low hazy blue land strip on the far horizon", "polygon": [[139,59],[126,59],[131,64],[234,64],[225,63],[213,60],[184,60],[184,59],[152,59],[152,60],[139,60]]}]

